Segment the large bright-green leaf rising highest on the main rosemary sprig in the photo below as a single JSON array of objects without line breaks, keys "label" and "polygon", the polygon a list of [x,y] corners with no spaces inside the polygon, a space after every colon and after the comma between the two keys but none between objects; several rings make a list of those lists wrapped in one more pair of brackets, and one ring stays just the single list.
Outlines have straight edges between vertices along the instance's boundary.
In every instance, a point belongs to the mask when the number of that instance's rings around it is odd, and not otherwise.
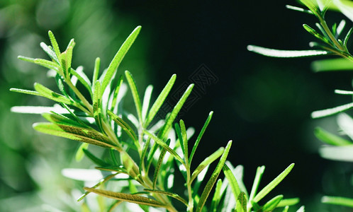
[{"label": "large bright-green leaf rising highest on the main rosemary sprig", "polygon": [[135,30],[133,30],[133,32],[125,40],[123,45],[121,45],[118,52],[116,52],[116,55],[111,61],[111,64],[109,64],[108,69],[106,71],[106,75],[103,78],[103,83],[101,86],[102,93],[104,93],[104,90],[106,90],[106,86],[108,86],[108,84],[111,82],[111,78],[113,77],[114,73],[116,73],[116,69],[118,69],[119,64],[123,60],[125,54],[128,52],[128,49],[130,49],[136,37],[138,37],[138,33],[140,33],[140,30],[141,26],[139,25],[137,28],[135,28]]}]

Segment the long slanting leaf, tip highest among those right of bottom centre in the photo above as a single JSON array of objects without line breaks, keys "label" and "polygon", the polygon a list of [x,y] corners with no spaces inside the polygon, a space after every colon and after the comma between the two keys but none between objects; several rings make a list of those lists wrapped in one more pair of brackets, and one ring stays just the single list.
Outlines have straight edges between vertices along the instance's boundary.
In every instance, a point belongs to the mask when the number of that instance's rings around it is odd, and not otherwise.
[{"label": "long slanting leaf, tip highest among those right of bottom centre", "polygon": [[223,155],[220,157],[220,161],[218,162],[218,165],[215,167],[215,170],[213,171],[211,178],[208,179],[208,182],[207,182],[207,184],[201,194],[200,200],[198,201],[196,212],[202,211],[202,208],[206,203],[208,195],[210,194],[211,189],[213,188],[213,184],[215,184],[215,181],[217,180],[218,175],[220,174],[220,171],[222,170],[222,167],[225,163],[225,160],[227,160],[230,146],[232,146],[232,141],[229,141],[227,146],[225,146],[225,150],[223,152]]}]

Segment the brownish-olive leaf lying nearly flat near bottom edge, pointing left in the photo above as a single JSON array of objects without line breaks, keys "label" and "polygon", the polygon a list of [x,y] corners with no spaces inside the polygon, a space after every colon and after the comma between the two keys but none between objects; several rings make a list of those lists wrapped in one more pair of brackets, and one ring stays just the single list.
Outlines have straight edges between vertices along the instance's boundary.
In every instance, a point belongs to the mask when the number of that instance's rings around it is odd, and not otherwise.
[{"label": "brownish-olive leaf lying nearly flat near bottom edge, pointing left", "polygon": [[93,192],[96,194],[99,194],[101,196],[106,196],[108,198],[112,199],[118,199],[121,201],[127,201],[130,203],[134,204],[142,204],[146,206],[153,206],[153,207],[162,207],[165,208],[166,206],[159,201],[155,201],[154,199],[150,199],[144,196],[138,196],[138,195],[133,195],[133,194],[124,194],[124,193],[118,193],[118,192],[110,192],[102,189],[91,189],[88,187],[84,187],[84,189],[88,192]]}]

